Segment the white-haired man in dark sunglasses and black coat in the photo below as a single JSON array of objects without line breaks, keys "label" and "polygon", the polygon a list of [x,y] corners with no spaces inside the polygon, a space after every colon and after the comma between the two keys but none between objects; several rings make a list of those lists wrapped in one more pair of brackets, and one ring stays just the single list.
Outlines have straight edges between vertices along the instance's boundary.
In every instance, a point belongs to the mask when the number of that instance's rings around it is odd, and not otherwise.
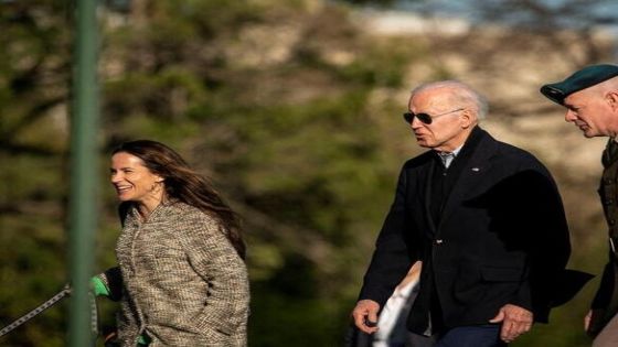
[{"label": "white-haired man in dark sunglasses and black coat", "polygon": [[413,90],[404,113],[429,151],[407,161],[359,302],[355,325],[372,334],[393,288],[423,261],[411,332],[439,347],[505,346],[547,322],[571,253],[561,196],[530,153],[479,126],[484,98],[437,82]]}]

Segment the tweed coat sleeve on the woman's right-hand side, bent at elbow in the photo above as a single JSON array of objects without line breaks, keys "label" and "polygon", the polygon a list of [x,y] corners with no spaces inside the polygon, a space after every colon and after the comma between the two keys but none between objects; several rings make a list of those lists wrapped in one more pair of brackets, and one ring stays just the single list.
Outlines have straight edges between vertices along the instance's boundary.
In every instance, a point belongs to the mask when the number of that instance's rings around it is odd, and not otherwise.
[{"label": "tweed coat sleeve on the woman's right-hand side, bent at elbow", "polygon": [[205,305],[195,325],[226,335],[246,322],[249,284],[244,261],[214,219],[195,218],[181,237],[191,267],[209,285]]}]

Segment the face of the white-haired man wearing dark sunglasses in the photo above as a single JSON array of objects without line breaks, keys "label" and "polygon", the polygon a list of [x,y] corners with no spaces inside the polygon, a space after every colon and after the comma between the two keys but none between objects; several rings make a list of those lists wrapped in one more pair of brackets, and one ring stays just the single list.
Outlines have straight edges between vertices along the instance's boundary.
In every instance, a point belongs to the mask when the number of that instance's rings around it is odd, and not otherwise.
[{"label": "face of the white-haired man wearing dark sunglasses", "polygon": [[446,93],[449,93],[446,88],[422,91],[411,98],[408,108],[413,113],[430,116],[446,113],[433,118],[430,124],[426,124],[415,117],[411,127],[418,145],[451,152],[466,140],[469,117],[465,109],[454,111],[461,107],[454,105]]}]

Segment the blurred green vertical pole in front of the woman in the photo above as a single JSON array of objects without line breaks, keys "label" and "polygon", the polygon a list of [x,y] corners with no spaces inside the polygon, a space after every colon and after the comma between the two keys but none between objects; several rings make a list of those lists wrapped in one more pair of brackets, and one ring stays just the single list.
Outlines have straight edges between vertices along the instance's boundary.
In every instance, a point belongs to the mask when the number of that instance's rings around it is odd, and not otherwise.
[{"label": "blurred green vertical pole in front of the woman", "polygon": [[88,280],[97,228],[98,35],[96,0],[76,0],[73,113],[71,123],[70,269],[73,288],[68,346],[94,345]]}]

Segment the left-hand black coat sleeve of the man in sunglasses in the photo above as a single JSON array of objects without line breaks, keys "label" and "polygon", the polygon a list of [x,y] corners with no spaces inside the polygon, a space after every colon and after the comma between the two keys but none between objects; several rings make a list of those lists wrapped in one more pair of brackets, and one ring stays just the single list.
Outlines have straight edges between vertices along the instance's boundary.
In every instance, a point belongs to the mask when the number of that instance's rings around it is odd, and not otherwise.
[{"label": "left-hand black coat sleeve of the man in sunglasses", "polygon": [[359,300],[373,300],[381,307],[405,276],[409,267],[418,259],[415,242],[411,242],[411,226],[407,215],[406,194],[408,177],[405,166],[399,174],[395,199],[384,220],[369,269],[364,275]]}]

